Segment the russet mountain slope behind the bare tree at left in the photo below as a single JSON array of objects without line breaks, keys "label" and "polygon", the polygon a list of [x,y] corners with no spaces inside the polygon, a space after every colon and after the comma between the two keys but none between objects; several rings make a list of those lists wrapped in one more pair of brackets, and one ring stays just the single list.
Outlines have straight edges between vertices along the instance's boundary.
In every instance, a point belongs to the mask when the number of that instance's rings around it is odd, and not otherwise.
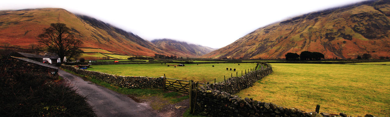
[{"label": "russet mountain slope behind the bare tree at left", "polygon": [[[84,50],[99,50],[124,55],[170,55],[150,41],[85,15],[65,9],[23,9],[0,11],[0,46],[4,43],[29,48],[51,23],[64,23],[74,36],[83,41]],[[86,54],[87,55],[87,54]],[[93,55],[91,55],[93,56]]]}]

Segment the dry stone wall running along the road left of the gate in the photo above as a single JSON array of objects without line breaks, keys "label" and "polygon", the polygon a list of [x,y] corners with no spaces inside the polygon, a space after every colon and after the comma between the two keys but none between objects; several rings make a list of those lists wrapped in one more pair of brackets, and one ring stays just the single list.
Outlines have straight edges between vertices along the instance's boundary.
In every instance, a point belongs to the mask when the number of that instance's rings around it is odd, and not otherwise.
[{"label": "dry stone wall running along the road left of the gate", "polygon": [[121,88],[163,88],[163,77],[117,76],[103,72],[79,69],[71,65],[61,65],[61,68],[76,74],[93,77]]}]

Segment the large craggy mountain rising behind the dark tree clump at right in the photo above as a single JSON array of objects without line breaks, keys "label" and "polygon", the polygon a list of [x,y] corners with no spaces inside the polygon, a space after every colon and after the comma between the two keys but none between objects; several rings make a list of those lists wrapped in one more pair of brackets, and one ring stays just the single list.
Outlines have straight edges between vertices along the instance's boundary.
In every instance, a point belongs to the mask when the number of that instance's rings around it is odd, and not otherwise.
[{"label": "large craggy mountain rising behind the dark tree clump at right", "polygon": [[390,57],[389,36],[390,1],[372,0],[264,26],[202,58],[285,58],[303,51],[325,58]]}]

